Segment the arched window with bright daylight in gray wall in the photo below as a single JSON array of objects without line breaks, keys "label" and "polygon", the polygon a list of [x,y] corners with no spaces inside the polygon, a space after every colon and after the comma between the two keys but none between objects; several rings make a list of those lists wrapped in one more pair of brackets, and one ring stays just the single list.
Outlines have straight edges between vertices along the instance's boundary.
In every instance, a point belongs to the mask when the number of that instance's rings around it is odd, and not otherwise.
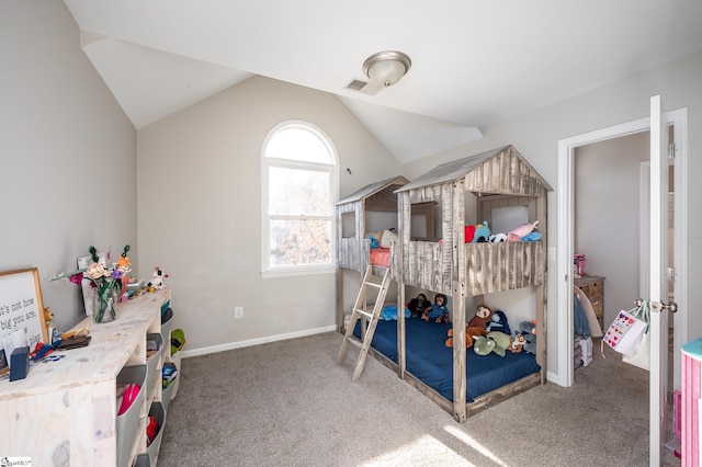
[{"label": "arched window with bright daylight in gray wall", "polygon": [[285,122],[263,143],[261,266],[264,275],[332,271],[337,157],[306,122]]}]

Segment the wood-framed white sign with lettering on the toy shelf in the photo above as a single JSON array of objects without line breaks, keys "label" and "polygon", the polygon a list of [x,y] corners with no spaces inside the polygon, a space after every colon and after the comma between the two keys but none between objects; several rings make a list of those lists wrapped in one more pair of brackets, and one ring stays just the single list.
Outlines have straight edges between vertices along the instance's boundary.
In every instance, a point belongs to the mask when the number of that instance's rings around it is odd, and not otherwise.
[{"label": "wood-framed white sign with lettering on the toy shelf", "polygon": [[47,340],[38,270],[0,272],[0,345],[7,360],[16,348],[32,351]]}]

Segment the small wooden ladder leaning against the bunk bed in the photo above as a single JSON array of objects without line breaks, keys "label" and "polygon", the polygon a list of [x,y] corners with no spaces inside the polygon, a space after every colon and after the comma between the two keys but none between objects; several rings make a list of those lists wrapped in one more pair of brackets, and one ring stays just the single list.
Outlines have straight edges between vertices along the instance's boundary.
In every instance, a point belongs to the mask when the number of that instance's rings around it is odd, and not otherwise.
[{"label": "small wooden ladder leaning against the bunk bed", "polygon": [[[347,351],[349,350],[349,344],[353,344],[361,349],[359,353],[359,361],[355,364],[355,369],[353,371],[353,380],[355,381],[361,377],[361,373],[363,372],[363,365],[365,364],[365,357],[371,350],[371,341],[373,340],[373,334],[375,334],[375,327],[377,326],[377,321],[381,318],[381,311],[383,310],[383,304],[385,301],[385,296],[387,295],[387,286],[389,284],[390,270],[386,269],[385,274],[383,275],[383,281],[378,284],[373,282],[371,278],[373,277],[373,266],[369,265],[365,270],[365,275],[363,276],[363,283],[361,284],[361,289],[359,291],[359,296],[355,299],[355,305],[353,305],[353,312],[351,314],[351,319],[347,324],[347,331],[343,335],[343,342],[341,343],[341,349],[339,350],[339,356],[337,357],[337,365],[341,365],[343,360],[347,356]],[[372,309],[367,307],[367,292],[369,289],[375,289],[377,292],[377,297],[375,299],[375,305]],[[355,329],[355,323],[361,318],[361,339],[359,340],[355,335],[353,335],[353,330]],[[371,320],[367,323],[366,321]]]}]

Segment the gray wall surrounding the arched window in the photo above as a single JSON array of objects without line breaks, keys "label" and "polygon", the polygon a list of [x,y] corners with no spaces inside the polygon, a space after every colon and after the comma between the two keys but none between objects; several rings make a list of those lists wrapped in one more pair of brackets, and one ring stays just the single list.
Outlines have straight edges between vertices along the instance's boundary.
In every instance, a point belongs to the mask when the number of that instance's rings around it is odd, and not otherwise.
[{"label": "gray wall surrounding the arched window", "polygon": [[[261,150],[286,119],[331,139],[342,196],[400,172],[336,96],[262,77],[138,132],[139,264],[170,274],[174,326],[191,354],[335,328],[335,274],[260,273]],[[244,318],[234,318],[235,306]]]}]

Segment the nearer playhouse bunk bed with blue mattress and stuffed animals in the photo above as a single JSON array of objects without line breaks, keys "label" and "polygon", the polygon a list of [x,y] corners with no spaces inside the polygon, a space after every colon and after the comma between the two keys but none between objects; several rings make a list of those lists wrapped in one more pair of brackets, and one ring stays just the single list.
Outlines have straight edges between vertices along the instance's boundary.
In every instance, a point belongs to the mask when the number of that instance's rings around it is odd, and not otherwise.
[{"label": "nearer playhouse bunk bed with blue mattress and stuffed animals", "polygon": [[[406,303],[406,287],[448,296],[455,326],[398,312],[397,321],[377,320],[370,353],[458,422],[545,383],[547,250],[541,232],[548,191],[512,146],[444,163],[395,191],[399,238],[392,243],[389,275],[398,301]],[[421,232],[414,217],[434,207],[437,230]],[[528,221],[488,231],[499,208],[526,213]],[[524,287],[533,289],[535,317],[512,322],[512,334],[509,311],[494,312],[485,295]],[[471,297],[478,312],[468,319]],[[356,324],[361,338],[365,328]]]}]

